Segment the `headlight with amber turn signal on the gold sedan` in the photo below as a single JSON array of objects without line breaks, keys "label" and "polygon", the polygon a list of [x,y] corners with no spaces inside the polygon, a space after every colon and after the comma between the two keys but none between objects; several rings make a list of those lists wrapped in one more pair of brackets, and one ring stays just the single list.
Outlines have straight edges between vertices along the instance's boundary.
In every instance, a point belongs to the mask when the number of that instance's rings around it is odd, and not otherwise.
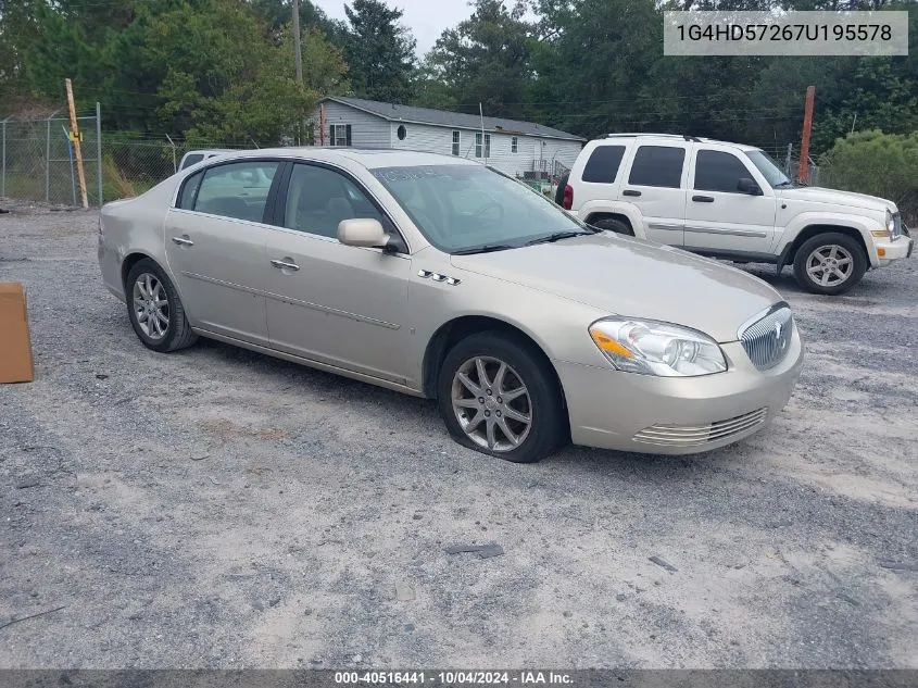
[{"label": "headlight with amber turn signal on the gold sedan", "polygon": [[604,317],[590,336],[617,370],[662,377],[710,375],[727,370],[720,347],[695,329],[625,317]]}]

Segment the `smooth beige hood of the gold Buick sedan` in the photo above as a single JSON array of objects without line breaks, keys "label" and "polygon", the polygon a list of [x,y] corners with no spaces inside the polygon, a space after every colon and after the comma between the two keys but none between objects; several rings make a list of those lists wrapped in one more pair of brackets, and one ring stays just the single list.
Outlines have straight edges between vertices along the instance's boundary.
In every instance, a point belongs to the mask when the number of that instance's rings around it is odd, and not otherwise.
[{"label": "smooth beige hood of the gold Buick sedan", "polygon": [[692,327],[735,341],[755,314],[781,300],[762,279],[735,267],[601,233],[519,249],[452,255],[458,270],[586,303],[609,315]]}]

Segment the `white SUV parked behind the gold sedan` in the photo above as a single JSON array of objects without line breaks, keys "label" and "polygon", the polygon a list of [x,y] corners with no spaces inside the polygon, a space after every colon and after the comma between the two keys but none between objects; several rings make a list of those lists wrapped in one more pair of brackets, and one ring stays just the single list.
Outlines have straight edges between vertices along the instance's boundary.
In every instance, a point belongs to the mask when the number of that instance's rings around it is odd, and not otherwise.
[{"label": "white SUV parked behind the gold sedan", "polygon": [[591,225],[779,273],[793,265],[816,293],[843,293],[911,254],[895,203],[796,185],[751,146],[614,134],[587,143],[562,189]]}]

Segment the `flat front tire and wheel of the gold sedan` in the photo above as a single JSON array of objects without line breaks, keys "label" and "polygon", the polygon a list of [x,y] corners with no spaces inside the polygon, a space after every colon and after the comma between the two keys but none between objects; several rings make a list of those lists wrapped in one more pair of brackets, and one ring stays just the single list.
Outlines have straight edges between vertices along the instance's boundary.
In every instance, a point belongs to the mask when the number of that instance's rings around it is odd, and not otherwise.
[{"label": "flat front tire and wheel of the gold sedan", "polygon": [[[479,361],[487,380],[480,387]],[[498,385],[502,364],[503,380]],[[460,373],[467,376],[468,385],[460,380]],[[538,350],[519,338],[483,332],[463,339],[447,353],[437,391],[447,428],[469,449],[514,463],[535,463],[567,439],[567,418],[554,371]],[[517,392],[513,399],[503,399],[513,392]],[[454,405],[456,401],[465,405]],[[528,425],[521,421],[527,417]]]}]

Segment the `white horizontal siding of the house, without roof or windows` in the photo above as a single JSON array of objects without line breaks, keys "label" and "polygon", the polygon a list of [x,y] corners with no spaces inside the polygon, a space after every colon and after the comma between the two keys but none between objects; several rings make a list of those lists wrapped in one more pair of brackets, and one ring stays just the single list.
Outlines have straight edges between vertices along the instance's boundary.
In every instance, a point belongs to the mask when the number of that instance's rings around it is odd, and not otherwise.
[{"label": "white horizontal siding of the house, without roof or windows", "polygon": [[[355,148],[394,148],[400,150],[416,150],[429,153],[452,154],[453,132],[460,132],[460,157],[468,160],[485,162],[485,158],[475,157],[476,129],[462,127],[435,126],[429,124],[413,124],[390,122],[383,117],[372,115],[350,105],[327,101],[325,103],[326,146],[329,146],[328,125],[350,124],[351,143]],[[318,117],[316,115],[315,121]],[[405,127],[404,140],[399,140],[399,126]],[[551,173],[556,161],[567,168],[574,166],[574,161],[582,148],[576,140],[562,140],[533,136],[513,135],[500,132],[486,132],[491,135],[491,154],[488,164],[504,174],[521,177],[526,172],[540,168],[540,161],[544,161],[544,171]],[[517,152],[512,152],[512,140],[516,136]],[[318,141],[316,141],[318,142]]]}]

